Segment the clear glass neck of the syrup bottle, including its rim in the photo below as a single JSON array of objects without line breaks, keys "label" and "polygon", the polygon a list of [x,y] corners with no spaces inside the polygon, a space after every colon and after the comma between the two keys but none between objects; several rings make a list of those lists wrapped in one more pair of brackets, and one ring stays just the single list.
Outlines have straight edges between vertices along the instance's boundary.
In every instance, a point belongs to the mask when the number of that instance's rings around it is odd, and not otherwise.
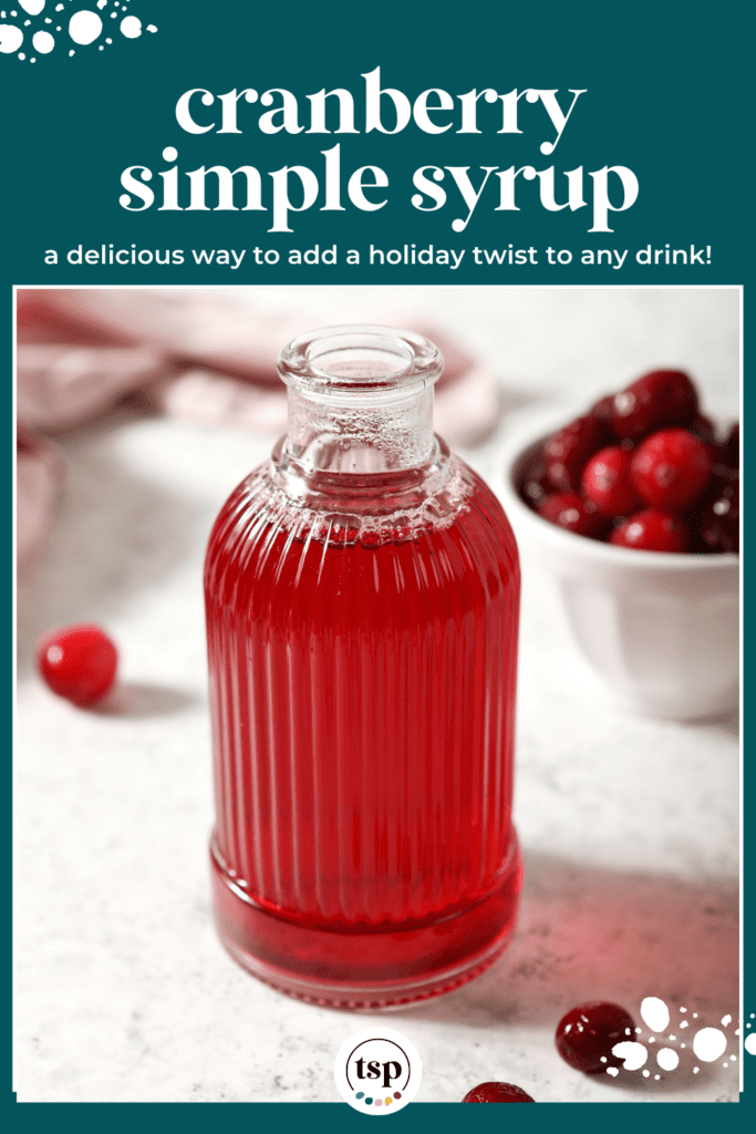
[{"label": "clear glass neck of the syrup bottle, including its rim", "polygon": [[295,339],[279,358],[289,430],[273,454],[278,483],[308,499],[375,505],[383,494],[387,506],[433,490],[449,466],[433,434],[442,365],[432,342],[392,328],[332,327]]}]

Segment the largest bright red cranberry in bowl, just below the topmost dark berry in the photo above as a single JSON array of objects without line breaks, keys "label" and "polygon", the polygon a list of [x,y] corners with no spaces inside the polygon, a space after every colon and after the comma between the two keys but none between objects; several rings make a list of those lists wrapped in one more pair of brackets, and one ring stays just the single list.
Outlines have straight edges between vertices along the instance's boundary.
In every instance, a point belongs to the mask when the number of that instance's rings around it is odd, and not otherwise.
[{"label": "largest bright red cranberry in bowl, just below the topmost dark berry", "polygon": [[690,508],[711,473],[708,447],[683,429],[661,430],[646,438],[630,464],[632,483],[654,508]]}]

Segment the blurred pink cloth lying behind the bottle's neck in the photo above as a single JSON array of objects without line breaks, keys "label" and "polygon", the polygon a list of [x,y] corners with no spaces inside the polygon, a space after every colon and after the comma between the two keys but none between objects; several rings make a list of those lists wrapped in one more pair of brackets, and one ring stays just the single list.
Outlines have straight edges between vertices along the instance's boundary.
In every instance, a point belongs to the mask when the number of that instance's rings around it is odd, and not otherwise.
[{"label": "blurred pink cloth lying behind the bottle's neck", "polygon": [[[469,445],[493,425],[492,374],[443,333],[373,301],[322,323],[411,325],[441,348],[435,422],[451,445]],[[388,293],[391,297],[392,293]],[[273,302],[271,302],[273,301]],[[278,306],[275,303],[278,302]],[[17,296],[19,423],[17,553],[19,573],[39,555],[63,477],[63,462],[41,434],[54,434],[145,392],[160,412],[203,424],[271,435],[286,428],[278,379],[281,347],[313,327],[312,305],[281,310],[273,291],[20,290]]]}]

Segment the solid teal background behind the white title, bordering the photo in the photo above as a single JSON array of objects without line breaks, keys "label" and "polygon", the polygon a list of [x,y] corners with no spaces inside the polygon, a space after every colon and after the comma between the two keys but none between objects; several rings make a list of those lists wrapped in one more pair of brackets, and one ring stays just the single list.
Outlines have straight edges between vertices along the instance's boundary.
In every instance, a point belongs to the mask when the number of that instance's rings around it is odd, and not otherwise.
[{"label": "solid teal background behind the white title, bordering the photo", "polygon": [[[71,3],[67,9],[86,7]],[[94,8],[94,2],[90,6]],[[209,5],[199,0],[134,0],[130,14],[143,25],[154,23],[155,35],[143,34],[126,41],[113,35],[112,46],[77,48],[73,58],[57,48],[34,65],[12,56],[0,56],[3,117],[3,176],[0,178],[0,217],[3,223],[0,287],[5,303],[6,381],[2,397],[11,418],[11,288],[14,285],[646,285],[745,287],[746,333],[749,329],[749,298],[753,281],[753,129],[754,109],[748,77],[753,71],[747,56],[749,43],[746,6],[672,2],[606,6],[584,2],[576,6],[543,2],[515,5],[467,2],[458,5],[417,2],[380,5],[304,5],[292,0],[274,10],[250,0],[227,0]],[[67,15],[63,12],[62,15]],[[42,14],[44,16],[44,12]],[[35,24],[40,19],[34,20]],[[495,127],[473,136],[431,136],[409,126],[396,136],[297,135],[264,136],[258,130],[232,136],[189,136],[176,124],[178,96],[190,87],[206,87],[216,94],[253,86],[258,92],[282,86],[304,100],[322,87],[351,90],[360,104],[364,90],[360,74],[381,66],[382,85],[404,91],[410,100],[427,87],[442,87],[452,95],[473,87],[492,86],[501,93],[513,87],[585,87],[555,153],[544,158],[538,145],[552,139],[553,130],[542,108],[521,103],[521,136],[496,135]],[[563,103],[564,104],[564,103]],[[215,109],[215,108],[212,108]],[[482,105],[483,112],[494,110]],[[249,117],[261,108],[241,107]],[[533,112],[538,126],[526,127]],[[357,126],[359,127],[359,112]],[[544,130],[542,127],[546,127]],[[118,204],[122,192],[120,172],[127,166],[145,164],[164,169],[162,149],[179,151],[179,167],[248,163],[261,171],[283,164],[320,169],[320,153],[341,142],[345,169],[377,164],[391,178],[390,203],[375,213],[347,206],[343,213],[317,208],[294,214],[292,235],[269,234],[270,213],[207,212],[164,213],[156,205],[129,213]],[[524,183],[521,211],[495,213],[485,196],[467,230],[455,234],[451,219],[458,215],[448,205],[436,213],[413,209],[409,197],[411,172],[422,164],[499,166],[530,163],[536,169],[554,164],[558,170],[583,166],[586,170],[623,164],[637,175],[640,195],[627,212],[613,214],[613,234],[588,234],[589,209],[559,213],[544,211],[535,200],[536,183]],[[264,178],[265,179],[265,178]],[[155,185],[153,179],[152,185]],[[586,180],[589,180],[586,177]],[[561,197],[560,191],[558,197]],[[532,197],[529,206],[526,204]],[[610,223],[612,223],[610,221]],[[45,248],[66,252],[113,242],[120,247],[252,248],[277,247],[286,260],[289,247],[321,247],[337,243],[340,249],[401,247],[517,247],[555,248],[617,247],[635,249],[651,244],[663,247],[711,245],[708,266],[640,268],[632,252],[620,271],[609,268],[570,266],[448,269],[402,266],[369,270],[359,268],[301,266],[255,269],[247,254],[241,269],[56,268],[43,263]],[[577,259],[577,257],[576,257]],[[745,413],[750,395],[746,388]],[[8,484],[10,484],[10,460]],[[5,494],[10,517],[10,491]],[[10,550],[10,524],[6,526]],[[749,538],[745,541],[745,553]],[[10,594],[10,555],[8,593]],[[748,613],[748,611],[746,611]],[[10,632],[11,604],[6,608]],[[746,621],[746,627],[748,623]],[[8,641],[10,641],[8,633]],[[10,661],[6,655],[10,674]],[[746,655],[749,675],[749,653]],[[10,714],[10,680],[6,683]],[[747,691],[746,691],[747,692]],[[745,697],[747,702],[747,697]],[[746,733],[746,737],[748,734]],[[9,739],[9,729],[6,729]],[[6,747],[9,751],[9,746]],[[6,762],[10,784],[9,760]],[[753,772],[746,764],[746,866],[753,863],[753,837],[747,819],[753,797]],[[7,798],[9,795],[7,796]],[[6,803],[9,809],[9,803]],[[7,829],[10,829],[8,812]],[[7,855],[9,863],[10,855]],[[753,953],[753,881],[746,874],[745,951]],[[6,872],[9,891],[9,871]],[[6,942],[9,936],[6,937]],[[6,966],[9,974],[9,966]],[[5,985],[10,1004],[10,976]],[[746,970],[744,989],[746,1017],[756,1010],[756,988]],[[9,1018],[7,1016],[7,1018]],[[6,1031],[9,1044],[9,1029]],[[10,1052],[8,1051],[8,1055]],[[74,1125],[79,1129],[127,1128],[135,1122],[147,1127],[163,1123],[188,1129],[212,1123],[228,1129],[247,1129],[255,1124],[265,1129],[275,1123],[294,1128],[305,1124],[314,1129],[351,1128],[362,1119],[340,1105],[256,1105],[254,1110],[227,1105],[223,1110],[181,1105],[170,1108],[145,1105],[122,1106],[15,1106],[10,1093],[10,1059],[7,1068],[5,1109],[12,1127],[36,1129],[48,1124]],[[756,1111],[756,1059],[745,1056],[746,1093],[737,1107],[716,1111],[716,1122],[745,1128]],[[627,1105],[571,1105],[557,1116],[549,1110],[507,1112],[515,1128],[546,1128],[554,1122],[615,1129],[630,1128],[639,1117],[651,1127],[670,1123],[697,1125],[711,1122],[699,1106],[666,1103],[642,1111]],[[670,1112],[669,1108],[672,1108]],[[685,1112],[682,1112],[685,1111]],[[500,1111],[415,1103],[394,1123],[411,1123],[421,1129],[456,1128],[464,1114],[466,1126],[493,1129],[502,1123]],[[519,1116],[519,1117],[518,1117]],[[750,1116],[750,1118],[749,1118]]]}]

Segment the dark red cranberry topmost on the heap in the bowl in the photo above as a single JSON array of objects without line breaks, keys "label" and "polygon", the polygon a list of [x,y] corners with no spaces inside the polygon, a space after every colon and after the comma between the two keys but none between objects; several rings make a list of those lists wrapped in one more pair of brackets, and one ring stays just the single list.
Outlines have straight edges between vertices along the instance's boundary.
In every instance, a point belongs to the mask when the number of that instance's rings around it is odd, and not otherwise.
[{"label": "dark red cranberry topmost on the heap in the bowl", "polygon": [[670,425],[687,425],[698,412],[696,388],[680,370],[654,370],[614,398],[612,429],[619,438],[642,438]]}]

